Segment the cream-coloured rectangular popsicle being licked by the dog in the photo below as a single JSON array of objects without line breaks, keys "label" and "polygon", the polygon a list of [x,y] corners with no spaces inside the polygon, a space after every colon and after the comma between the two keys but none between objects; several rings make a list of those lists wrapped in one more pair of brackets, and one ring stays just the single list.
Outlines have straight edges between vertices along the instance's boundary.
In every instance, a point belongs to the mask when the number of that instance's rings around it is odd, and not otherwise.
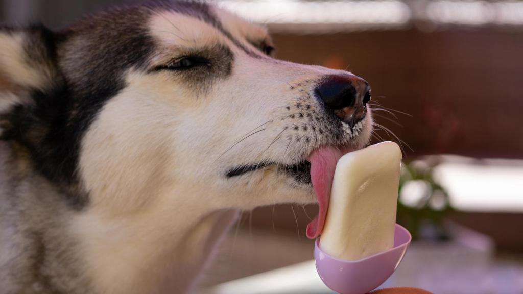
[{"label": "cream-coloured rectangular popsicle being licked by the dog", "polygon": [[401,159],[393,142],[339,159],[320,238],[324,252],[355,261],[393,247]]}]

